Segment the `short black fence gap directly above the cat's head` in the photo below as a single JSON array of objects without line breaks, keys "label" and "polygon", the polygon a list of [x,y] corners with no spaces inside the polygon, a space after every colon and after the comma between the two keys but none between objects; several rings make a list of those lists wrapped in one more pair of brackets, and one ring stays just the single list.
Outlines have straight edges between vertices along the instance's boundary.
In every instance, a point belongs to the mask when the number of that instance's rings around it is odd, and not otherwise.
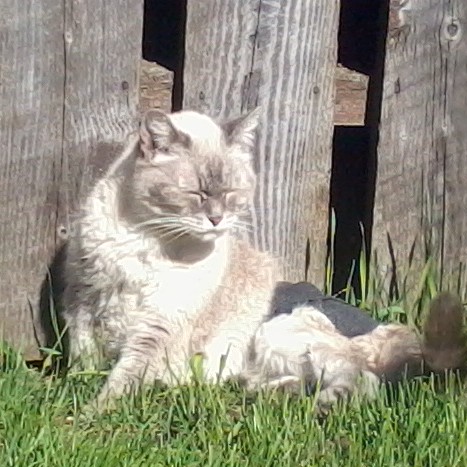
[{"label": "short black fence gap directly above the cat's head", "polygon": [[172,109],[183,96],[186,0],[145,0],[143,58],[174,72]]}]

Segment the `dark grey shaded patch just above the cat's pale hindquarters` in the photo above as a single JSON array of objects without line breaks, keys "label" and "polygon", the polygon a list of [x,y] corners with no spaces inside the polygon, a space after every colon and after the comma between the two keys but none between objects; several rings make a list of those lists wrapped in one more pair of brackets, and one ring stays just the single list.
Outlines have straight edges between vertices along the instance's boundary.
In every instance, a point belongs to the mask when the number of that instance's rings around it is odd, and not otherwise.
[{"label": "dark grey shaded patch just above the cat's pale hindquarters", "polygon": [[293,284],[278,282],[271,303],[271,316],[292,313],[294,308],[310,305],[323,313],[346,337],[355,337],[373,331],[379,322],[338,298],[324,295],[317,287],[307,282]]}]

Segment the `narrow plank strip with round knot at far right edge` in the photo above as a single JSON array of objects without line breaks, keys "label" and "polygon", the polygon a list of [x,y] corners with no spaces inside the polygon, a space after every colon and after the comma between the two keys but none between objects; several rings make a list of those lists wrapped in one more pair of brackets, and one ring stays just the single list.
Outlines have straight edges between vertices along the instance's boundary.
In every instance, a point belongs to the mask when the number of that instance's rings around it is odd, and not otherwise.
[{"label": "narrow plank strip with round knot at far right edge", "polygon": [[[467,266],[467,4],[451,1],[443,11],[441,74],[445,76],[443,155],[443,272],[463,275]],[[443,83],[444,84],[444,83]]]}]

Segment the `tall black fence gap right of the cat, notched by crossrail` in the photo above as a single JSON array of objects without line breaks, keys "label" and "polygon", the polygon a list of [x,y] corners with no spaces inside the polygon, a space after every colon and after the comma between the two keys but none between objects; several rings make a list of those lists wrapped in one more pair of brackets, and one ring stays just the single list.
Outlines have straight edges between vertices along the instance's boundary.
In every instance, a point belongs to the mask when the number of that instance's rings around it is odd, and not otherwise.
[{"label": "tall black fence gap right of the cat, notched by crossrail", "polygon": [[[352,262],[358,260],[363,225],[370,248],[389,0],[342,0],[338,62],[369,76],[365,126],[336,126],[333,139],[331,208],[334,236],[333,292],[347,284]],[[358,269],[352,284],[359,290]]]}]

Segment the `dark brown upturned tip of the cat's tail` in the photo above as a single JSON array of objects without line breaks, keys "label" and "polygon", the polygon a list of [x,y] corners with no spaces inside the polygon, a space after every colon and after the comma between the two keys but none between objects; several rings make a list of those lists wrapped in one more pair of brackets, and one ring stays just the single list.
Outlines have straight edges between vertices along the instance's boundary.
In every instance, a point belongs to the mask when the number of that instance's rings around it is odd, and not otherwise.
[{"label": "dark brown upturned tip of the cat's tail", "polygon": [[467,368],[464,307],[459,297],[442,292],[435,297],[423,326],[422,354],[433,372]]}]

